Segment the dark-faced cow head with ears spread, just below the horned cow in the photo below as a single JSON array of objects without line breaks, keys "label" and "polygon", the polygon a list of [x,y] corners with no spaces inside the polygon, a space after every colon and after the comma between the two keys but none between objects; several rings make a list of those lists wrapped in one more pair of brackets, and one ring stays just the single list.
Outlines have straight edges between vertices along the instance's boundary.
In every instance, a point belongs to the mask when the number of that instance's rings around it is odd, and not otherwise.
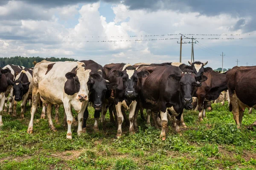
[{"label": "dark-faced cow head with ears spread, just below the horned cow", "polygon": [[196,76],[193,71],[186,69],[182,74],[170,74],[170,79],[175,79],[179,82],[181,102],[184,104],[185,109],[192,109],[192,96],[195,92],[196,82],[204,82],[207,77],[204,75]]}]

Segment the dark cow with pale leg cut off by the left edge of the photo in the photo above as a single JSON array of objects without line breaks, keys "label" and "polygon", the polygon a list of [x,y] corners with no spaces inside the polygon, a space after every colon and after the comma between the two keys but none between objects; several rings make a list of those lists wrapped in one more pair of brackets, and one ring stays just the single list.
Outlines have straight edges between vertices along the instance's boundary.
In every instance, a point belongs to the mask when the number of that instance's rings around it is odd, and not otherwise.
[{"label": "dark cow with pale leg cut off by the left edge of the photo", "polygon": [[[5,93],[8,88],[8,82],[5,76],[7,72],[10,72],[10,70],[7,68],[6,69],[0,68],[0,126],[3,126],[3,120],[2,120],[3,105],[5,102]],[[13,83],[12,80],[9,80],[9,81]]]}]

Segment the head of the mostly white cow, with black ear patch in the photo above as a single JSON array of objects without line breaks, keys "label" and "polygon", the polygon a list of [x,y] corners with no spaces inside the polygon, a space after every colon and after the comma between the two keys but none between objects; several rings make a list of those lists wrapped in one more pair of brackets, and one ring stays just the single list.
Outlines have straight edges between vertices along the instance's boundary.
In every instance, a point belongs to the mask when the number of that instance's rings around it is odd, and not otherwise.
[{"label": "head of the mostly white cow, with black ear patch", "polygon": [[87,82],[90,77],[90,69],[86,69],[84,63],[80,62],[71,72],[68,72],[65,77],[67,81],[64,85],[64,91],[67,95],[76,94],[76,99],[83,102],[88,99],[89,88]]}]

